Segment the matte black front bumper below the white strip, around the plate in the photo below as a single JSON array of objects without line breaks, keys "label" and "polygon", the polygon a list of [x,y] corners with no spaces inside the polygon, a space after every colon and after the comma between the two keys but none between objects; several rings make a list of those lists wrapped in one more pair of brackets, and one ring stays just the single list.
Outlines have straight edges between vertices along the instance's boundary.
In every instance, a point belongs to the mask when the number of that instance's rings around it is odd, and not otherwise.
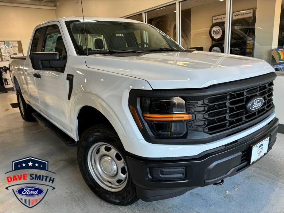
[{"label": "matte black front bumper below the white strip, around the plate", "polygon": [[[182,159],[149,159],[128,154],[127,164],[136,185],[138,197],[144,201],[167,199],[184,194],[200,186],[214,184],[250,166],[250,145],[270,137],[268,151],[276,141],[278,118],[258,131],[222,147],[209,150],[202,157]],[[205,145],[205,144],[204,144]],[[255,162],[254,162],[255,163]],[[253,164],[254,164],[253,163]],[[185,168],[182,180],[157,180],[150,176],[150,168]]]}]

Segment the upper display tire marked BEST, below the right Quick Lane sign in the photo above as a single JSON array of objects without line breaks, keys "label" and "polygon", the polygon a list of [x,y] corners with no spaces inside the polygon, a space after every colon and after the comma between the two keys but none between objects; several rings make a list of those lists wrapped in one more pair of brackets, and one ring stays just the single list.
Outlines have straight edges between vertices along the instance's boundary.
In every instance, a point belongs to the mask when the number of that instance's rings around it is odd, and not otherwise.
[{"label": "upper display tire marked BEST, below the right Quick Lane sign", "polygon": [[236,19],[232,21],[231,38],[235,40],[246,38],[246,36],[250,33],[250,28],[250,23],[245,19]]}]

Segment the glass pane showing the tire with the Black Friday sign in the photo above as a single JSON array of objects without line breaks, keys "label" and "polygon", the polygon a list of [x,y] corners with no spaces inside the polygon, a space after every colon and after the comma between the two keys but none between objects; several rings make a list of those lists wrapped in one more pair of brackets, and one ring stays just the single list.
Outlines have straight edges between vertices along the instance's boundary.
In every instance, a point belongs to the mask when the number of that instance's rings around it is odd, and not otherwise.
[{"label": "glass pane showing the tire with the Black Friday sign", "polygon": [[226,1],[181,2],[181,45],[210,52],[224,52]]}]

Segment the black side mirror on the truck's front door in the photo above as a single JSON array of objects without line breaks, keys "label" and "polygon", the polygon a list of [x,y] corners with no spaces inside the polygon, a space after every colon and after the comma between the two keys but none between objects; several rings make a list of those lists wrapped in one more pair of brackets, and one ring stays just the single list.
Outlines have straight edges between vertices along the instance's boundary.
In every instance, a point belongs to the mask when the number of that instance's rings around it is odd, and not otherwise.
[{"label": "black side mirror on the truck's front door", "polygon": [[58,52],[33,52],[30,56],[35,70],[56,70],[65,67],[66,60],[60,60]]}]

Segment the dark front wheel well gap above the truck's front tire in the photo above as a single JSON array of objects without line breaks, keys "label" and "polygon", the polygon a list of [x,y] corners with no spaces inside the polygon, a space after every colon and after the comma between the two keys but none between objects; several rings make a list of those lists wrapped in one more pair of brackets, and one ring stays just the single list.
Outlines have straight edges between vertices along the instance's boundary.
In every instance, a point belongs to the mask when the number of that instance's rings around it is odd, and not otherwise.
[{"label": "dark front wheel well gap above the truck's front tire", "polygon": [[106,124],[113,128],[108,119],[99,110],[95,109],[92,106],[83,106],[79,111],[77,120],[77,130],[79,138],[86,129],[95,124]]}]

